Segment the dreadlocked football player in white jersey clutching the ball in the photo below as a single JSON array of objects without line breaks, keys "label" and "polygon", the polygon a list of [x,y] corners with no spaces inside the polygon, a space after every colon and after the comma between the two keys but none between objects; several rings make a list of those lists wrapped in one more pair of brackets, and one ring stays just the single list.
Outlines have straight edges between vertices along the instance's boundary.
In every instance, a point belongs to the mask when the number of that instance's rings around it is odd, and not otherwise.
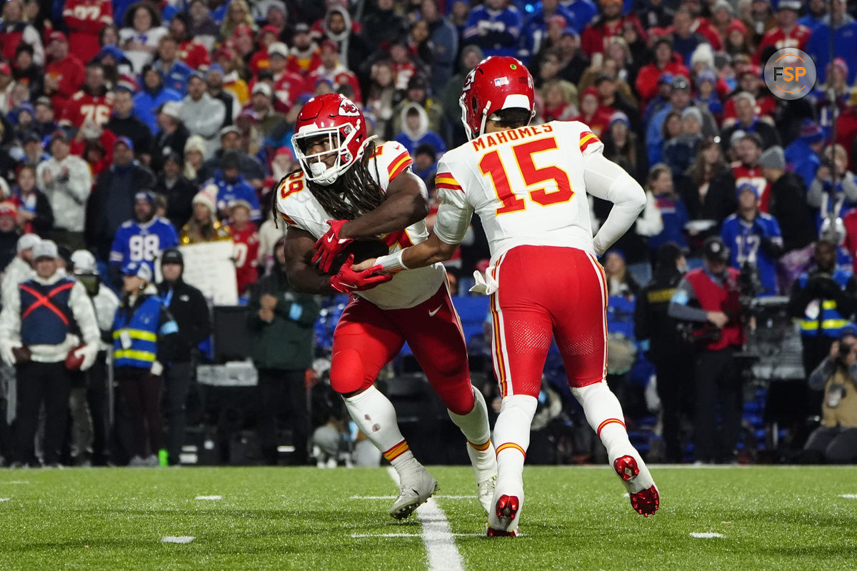
[{"label": "dreadlocked football player in white jersey clutching the ball", "polygon": [[470,384],[464,334],[443,265],[378,276],[374,268],[353,271],[351,256],[333,277],[327,273],[355,239],[381,238],[395,251],[428,238],[428,196],[411,172],[411,156],[396,142],[376,146],[367,137],[363,113],[339,94],[303,106],[292,143],[301,170],[274,189],[289,225],[289,281],[297,291],[351,294],[333,333],[331,386],[399,473],[401,491],[390,514],[407,517],[437,487],[402,437],[393,404],[374,386],[405,342],[467,439],[479,500],[488,510],[497,473],[488,409]]}]

